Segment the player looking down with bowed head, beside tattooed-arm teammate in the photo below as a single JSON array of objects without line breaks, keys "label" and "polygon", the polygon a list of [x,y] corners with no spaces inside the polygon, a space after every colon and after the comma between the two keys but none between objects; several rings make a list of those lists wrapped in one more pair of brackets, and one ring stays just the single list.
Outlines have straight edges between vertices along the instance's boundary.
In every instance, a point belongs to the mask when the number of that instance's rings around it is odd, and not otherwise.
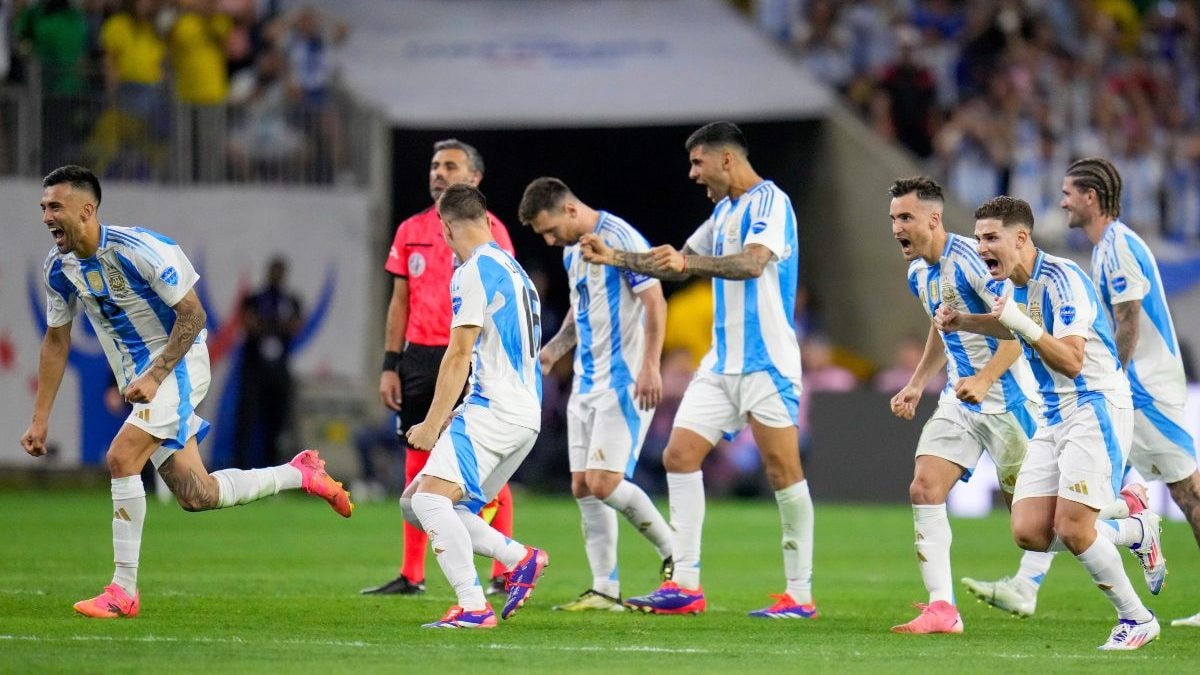
[{"label": "player looking down with bowed head, beside tattooed-arm teammate", "polygon": [[584,204],[557,178],[530,183],[521,199],[521,222],[551,246],[564,246],[571,310],[541,350],[544,372],[575,351],[575,378],[566,404],[571,494],[583,515],[583,544],[592,587],[566,611],[624,611],[617,574],[617,513],[650,542],[670,579],[671,530],[654,502],[634,482],[634,467],[662,398],[659,359],[667,304],[658,279],[593,265],[580,255],[580,238],[595,233],[613,246],[648,251],[624,220]]}]

